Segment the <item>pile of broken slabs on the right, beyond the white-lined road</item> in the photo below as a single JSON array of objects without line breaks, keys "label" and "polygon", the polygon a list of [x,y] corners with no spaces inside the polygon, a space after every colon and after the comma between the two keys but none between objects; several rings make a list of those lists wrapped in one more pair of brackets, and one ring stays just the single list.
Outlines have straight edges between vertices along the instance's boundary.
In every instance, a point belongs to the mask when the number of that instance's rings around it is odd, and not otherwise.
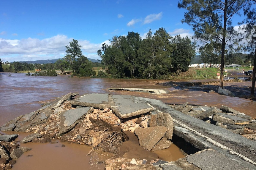
[{"label": "pile of broken slabs on the right, beyond the white-lined road", "polygon": [[240,113],[230,107],[222,105],[220,109],[217,109],[209,106],[190,106],[188,102],[182,105],[169,106],[184,114],[256,141],[256,121],[251,116]]}]

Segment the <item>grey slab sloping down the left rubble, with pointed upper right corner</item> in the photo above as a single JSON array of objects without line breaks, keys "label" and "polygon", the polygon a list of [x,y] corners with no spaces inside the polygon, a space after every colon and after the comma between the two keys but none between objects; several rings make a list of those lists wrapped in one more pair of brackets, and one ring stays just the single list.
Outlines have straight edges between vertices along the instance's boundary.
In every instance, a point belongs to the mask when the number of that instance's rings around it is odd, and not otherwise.
[{"label": "grey slab sloping down the left rubble, with pointed upper right corner", "polygon": [[64,134],[74,128],[80,119],[83,119],[87,114],[91,113],[91,111],[93,111],[93,108],[83,107],[63,112],[60,118],[59,134]]}]

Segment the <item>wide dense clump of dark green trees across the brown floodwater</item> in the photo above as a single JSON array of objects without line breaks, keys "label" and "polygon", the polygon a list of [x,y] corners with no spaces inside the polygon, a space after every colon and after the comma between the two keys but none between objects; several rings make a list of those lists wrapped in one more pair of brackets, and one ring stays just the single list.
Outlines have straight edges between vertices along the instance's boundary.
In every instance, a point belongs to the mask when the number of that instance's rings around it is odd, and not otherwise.
[{"label": "wide dense clump of dark green trees across the brown floodwater", "polygon": [[114,36],[97,54],[110,77],[169,79],[173,72],[187,71],[195,56],[195,42],[159,28],[154,35],[149,30],[143,40],[134,32]]}]

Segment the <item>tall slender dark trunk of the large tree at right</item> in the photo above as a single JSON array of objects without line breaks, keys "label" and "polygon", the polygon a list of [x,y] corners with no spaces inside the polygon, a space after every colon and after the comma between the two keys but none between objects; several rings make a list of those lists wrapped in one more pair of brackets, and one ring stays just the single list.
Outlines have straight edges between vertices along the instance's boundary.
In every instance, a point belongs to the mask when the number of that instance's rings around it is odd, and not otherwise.
[{"label": "tall slender dark trunk of the large tree at right", "polygon": [[225,0],[225,5],[224,5],[224,22],[223,22],[222,46],[221,46],[220,86],[219,86],[221,88],[223,88],[226,29],[227,29],[227,0]]}]

